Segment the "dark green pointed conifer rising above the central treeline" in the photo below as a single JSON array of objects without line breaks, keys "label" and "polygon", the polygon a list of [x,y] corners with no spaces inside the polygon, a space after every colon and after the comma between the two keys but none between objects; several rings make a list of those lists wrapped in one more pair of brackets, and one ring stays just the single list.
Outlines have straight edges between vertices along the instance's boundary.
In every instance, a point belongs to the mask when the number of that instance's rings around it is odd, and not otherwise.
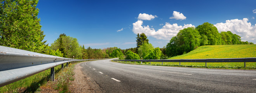
[{"label": "dark green pointed conifer rising above the central treeline", "polygon": [[148,43],[148,37],[146,36],[146,34],[141,33],[141,34],[137,34],[137,49],[143,44],[143,43]]}]

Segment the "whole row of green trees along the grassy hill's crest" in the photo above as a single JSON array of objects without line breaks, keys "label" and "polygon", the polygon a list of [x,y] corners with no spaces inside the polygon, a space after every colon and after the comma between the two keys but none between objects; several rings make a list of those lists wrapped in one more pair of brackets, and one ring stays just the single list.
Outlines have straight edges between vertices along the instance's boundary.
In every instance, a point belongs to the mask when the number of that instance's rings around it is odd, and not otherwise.
[{"label": "whole row of green trees along the grassy hill's crest", "polygon": [[182,55],[203,45],[253,44],[248,43],[248,41],[243,42],[240,38],[230,31],[219,33],[213,24],[205,22],[196,28],[190,27],[180,30],[167,43],[166,54],[168,57]]}]

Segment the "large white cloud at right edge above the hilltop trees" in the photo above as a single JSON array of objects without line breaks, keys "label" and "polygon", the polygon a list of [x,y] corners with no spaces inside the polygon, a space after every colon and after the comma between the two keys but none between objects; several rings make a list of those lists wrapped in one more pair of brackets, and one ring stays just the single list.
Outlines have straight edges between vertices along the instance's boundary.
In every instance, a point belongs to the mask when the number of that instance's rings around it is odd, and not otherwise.
[{"label": "large white cloud at right edge above the hilltop trees", "polygon": [[256,42],[256,24],[251,25],[247,18],[243,20],[232,19],[226,20],[226,23],[217,23],[214,26],[218,31],[231,31],[241,37],[242,41]]}]

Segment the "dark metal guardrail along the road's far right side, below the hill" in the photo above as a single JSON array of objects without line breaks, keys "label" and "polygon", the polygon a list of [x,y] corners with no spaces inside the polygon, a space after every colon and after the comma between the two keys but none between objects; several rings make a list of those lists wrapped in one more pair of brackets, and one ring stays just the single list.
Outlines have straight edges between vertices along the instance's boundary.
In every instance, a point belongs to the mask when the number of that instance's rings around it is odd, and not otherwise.
[{"label": "dark metal guardrail along the road's far right side, below the hill", "polygon": [[256,57],[253,58],[230,58],[230,59],[163,59],[163,60],[114,60],[114,61],[130,61],[134,62],[205,62],[205,67],[207,66],[208,62],[244,62],[244,67],[246,67],[246,62],[256,62]]}]

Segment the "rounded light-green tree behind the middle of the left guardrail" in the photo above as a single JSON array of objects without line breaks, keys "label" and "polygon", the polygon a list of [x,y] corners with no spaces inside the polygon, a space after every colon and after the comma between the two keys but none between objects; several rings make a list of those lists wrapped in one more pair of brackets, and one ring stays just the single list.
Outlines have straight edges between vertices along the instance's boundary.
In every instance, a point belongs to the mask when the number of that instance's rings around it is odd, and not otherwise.
[{"label": "rounded light-green tree behind the middle of the left guardrail", "polygon": [[60,37],[51,44],[51,49],[61,50],[65,58],[82,59],[82,47],[79,45],[77,38],[60,35]]}]

